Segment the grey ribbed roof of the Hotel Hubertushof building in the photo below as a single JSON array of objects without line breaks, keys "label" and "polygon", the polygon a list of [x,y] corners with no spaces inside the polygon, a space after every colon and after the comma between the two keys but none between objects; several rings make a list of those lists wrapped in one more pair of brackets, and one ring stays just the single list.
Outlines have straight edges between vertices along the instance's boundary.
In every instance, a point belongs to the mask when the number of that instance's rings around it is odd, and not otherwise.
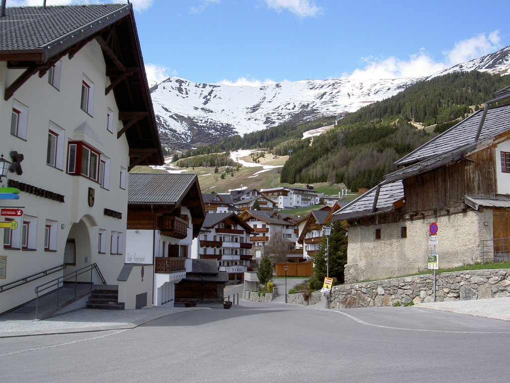
[{"label": "grey ribbed roof of the Hotel Hubertushof building", "polygon": [[196,174],[130,173],[128,203],[176,205],[194,182]]}]

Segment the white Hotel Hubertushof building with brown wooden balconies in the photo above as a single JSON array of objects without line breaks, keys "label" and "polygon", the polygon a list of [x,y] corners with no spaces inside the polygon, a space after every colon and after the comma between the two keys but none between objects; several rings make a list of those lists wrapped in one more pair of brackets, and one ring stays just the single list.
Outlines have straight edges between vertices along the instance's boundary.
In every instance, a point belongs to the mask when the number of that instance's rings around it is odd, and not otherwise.
[{"label": "white Hotel Hubertushof building with brown wooden balconies", "polygon": [[175,283],[192,271],[192,241],[206,216],[198,177],[134,173],[129,181],[126,264],[154,267],[152,290],[140,284],[131,296],[173,307]]}]

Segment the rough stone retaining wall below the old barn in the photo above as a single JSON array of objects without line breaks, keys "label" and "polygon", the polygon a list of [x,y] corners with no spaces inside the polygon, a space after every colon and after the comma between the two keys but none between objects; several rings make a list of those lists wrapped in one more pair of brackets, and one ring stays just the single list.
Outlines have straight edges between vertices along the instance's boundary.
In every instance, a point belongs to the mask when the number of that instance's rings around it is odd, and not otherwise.
[{"label": "rough stone retaining wall below the old barn", "polygon": [[[432,302],[432,274],[333,286],[331,308]],[[510,270],[466,270],[436,275],[436,302],[510,296]]]}]

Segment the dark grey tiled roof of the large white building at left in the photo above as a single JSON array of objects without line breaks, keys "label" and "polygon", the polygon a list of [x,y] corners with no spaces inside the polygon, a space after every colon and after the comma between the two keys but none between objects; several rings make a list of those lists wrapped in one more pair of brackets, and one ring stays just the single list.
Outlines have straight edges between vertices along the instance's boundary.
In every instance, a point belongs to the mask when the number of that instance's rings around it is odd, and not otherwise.
[{"label": "dark grey tiled roof of the large white building at left", "polygon": [[43,50],[45,59],[130,12],[130,5],[7,7],[0,22],[0,51]]}]

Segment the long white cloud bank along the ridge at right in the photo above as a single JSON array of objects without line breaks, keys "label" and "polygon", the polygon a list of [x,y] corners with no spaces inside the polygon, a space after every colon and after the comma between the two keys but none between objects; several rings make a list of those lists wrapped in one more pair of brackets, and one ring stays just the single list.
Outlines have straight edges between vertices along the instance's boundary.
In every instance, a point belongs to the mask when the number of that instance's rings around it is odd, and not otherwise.
[{"label": "long white cloud bank along the ridge at right", "polygon": [[408,60],[396,57],[385,59],[365,59],[362,69],[355,69],[351,74],[343,74],[342,78],[351,80],[394,79],[430,76],[438,71],[456,64],[472,60],[500,49],[499,31],[489,36],[484,34],[457,42],[452,50],[443,52],[444,61],[438,62],[430,57],[425,50],[411,55]]}]

